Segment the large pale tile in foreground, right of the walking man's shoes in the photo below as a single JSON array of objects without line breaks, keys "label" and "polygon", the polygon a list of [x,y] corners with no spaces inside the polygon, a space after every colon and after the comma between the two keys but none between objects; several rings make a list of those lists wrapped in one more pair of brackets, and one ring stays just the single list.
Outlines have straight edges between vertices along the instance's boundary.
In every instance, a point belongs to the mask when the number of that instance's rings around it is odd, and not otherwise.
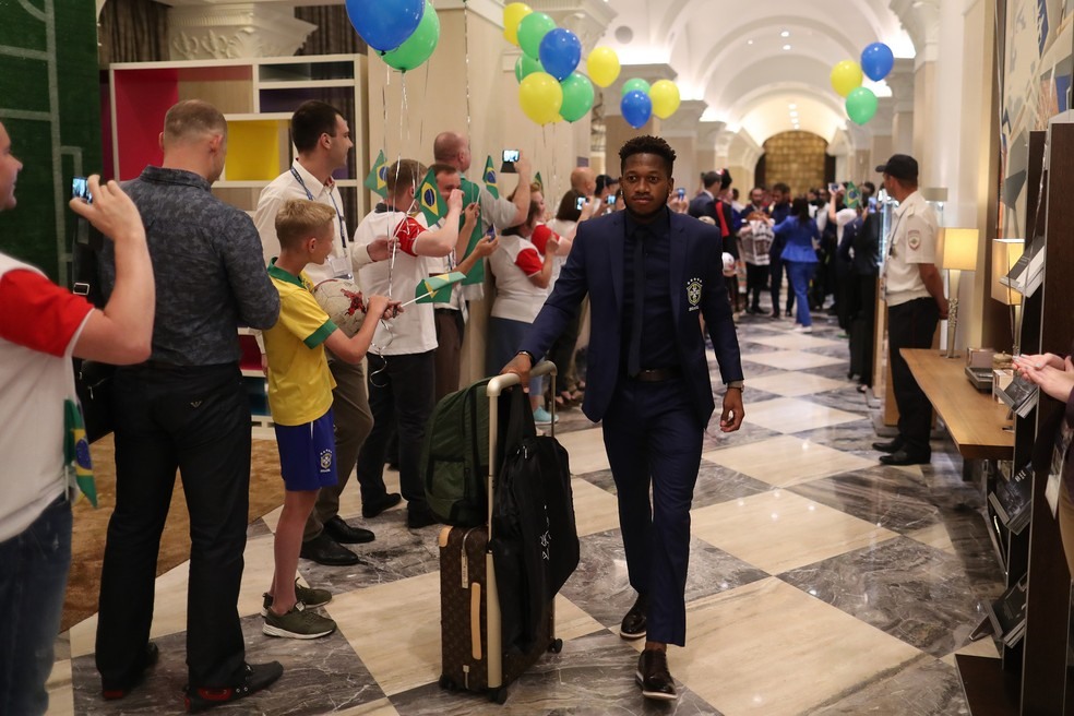
[{"label": "large pale tile in foreground, right of the walking man's shoes", "polygon": [[920,656],[769,578],[689,605],[687,646],[671,651],[669,666],[727,716],[792,716]]}]

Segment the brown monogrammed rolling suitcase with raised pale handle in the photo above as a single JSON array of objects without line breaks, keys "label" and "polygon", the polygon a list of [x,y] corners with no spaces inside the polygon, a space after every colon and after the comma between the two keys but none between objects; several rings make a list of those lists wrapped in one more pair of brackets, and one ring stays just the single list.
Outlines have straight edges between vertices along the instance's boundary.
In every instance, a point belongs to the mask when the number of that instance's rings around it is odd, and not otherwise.
[{"label": "brown monogrammed rolling suitcase with raised pale handle", "polygon": [[[556,367],[548,361],[534,368],[534,375],[552,375]],[[505,389],[517,385],[517,375],[500,375],[489,381],[489,425],[499,426],[498,397]],[[552,433],[554,434],[554,404]],[[489,455],[497,455],[497,428],[489,430]],[[488,521],[477,527],[444,527],[440,532],[440,620],[442,671],[440,687],[488,694],[502,704],[508,685],[517,679],[541,654],[558,653],[562,640],[554,637],[556,616],[552,600],[544,607],[538,633],[527,652],[504,649],[499,593],[489,526],[492,524],[494,472],[490,461],[488,475]]]}]

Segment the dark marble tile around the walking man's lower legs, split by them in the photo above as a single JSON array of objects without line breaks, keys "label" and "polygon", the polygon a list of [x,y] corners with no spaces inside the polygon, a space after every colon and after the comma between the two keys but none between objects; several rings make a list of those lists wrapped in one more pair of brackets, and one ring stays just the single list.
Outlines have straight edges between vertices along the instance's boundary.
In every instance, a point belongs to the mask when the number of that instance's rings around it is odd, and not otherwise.
[{"label": "dark marble tile around the walking man's lower legs, split by them", "polygon": [[[767,573],[700,539],[690,540],[687,601],[765,578]],[[578,569],[561,594],[605,626],[616,630],[637,594],[630,586],[622,536],[618,529],[582,538]]]}]

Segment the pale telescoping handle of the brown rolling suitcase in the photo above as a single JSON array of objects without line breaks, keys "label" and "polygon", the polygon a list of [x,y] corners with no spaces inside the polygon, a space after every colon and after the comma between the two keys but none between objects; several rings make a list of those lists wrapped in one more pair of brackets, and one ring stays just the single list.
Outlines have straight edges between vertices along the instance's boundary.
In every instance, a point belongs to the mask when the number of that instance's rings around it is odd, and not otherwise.
[{"label": "pale telescoping handle of the brown rolling suitcase", "polygon": [[[529,371],[529,375],[537,378],[540,375],[551,375],[552,377],[552,395],[556,395],[556,363],[542,360],[533,370]],[[489,496],[489,512],[488,512],[488,535],[489,545],[492,544],[492,478],[496,475],[496,470],[499,469],[499,465],[496,464],[496,451],[497,451],[497,440],[499,435],[497,434],[498,426],[500,425],[500,394],[511,387],[512,385],[517,385],[520,383],[518,377],[514,373],[509,373],[506,375],[497,375],[489,381],[488,385],[485,387],[485,394],[489,397],[489,474],[487,476],[487,494]],[[552,437],[556,435],[556,401],[552,401],[552,422],[551,432]],[[488,680],[487,685],[490,690],[499,689],[503,685],[503,633],[502,633],[502,620],[500,613],[500,590],[497,588],[496,584],[496,565],[492,561],[491,549],[485,554],[485,574],[486,574],[486,609],[485,617],[486,623],[488,625],[488,648],[486,653],[488,654]]]}]

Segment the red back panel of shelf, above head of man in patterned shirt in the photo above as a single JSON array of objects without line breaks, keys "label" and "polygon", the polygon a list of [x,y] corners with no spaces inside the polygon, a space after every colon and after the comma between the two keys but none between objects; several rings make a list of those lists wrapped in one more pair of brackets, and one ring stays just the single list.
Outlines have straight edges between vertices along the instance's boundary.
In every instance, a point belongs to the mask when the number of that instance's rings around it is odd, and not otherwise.
[{"label": "red back panel of shelf, above head of man in patterned shirt", "polygon": [[159,136],[164,116],[179,102],[178,82],[176,69],[116,72],[117,179],[133,179],[147,164],[160,165]]}]

